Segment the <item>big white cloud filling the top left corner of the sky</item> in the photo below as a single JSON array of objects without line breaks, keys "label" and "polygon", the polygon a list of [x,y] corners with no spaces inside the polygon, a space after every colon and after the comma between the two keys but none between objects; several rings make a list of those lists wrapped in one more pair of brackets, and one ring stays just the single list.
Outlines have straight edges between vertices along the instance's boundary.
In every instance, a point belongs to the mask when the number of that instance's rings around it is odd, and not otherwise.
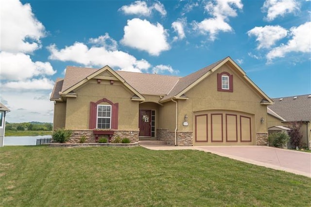
[{"label": "big white cloud filling the top left corner of the sky", "polygon": [[32,12],[29,3],[18,0],[1,3],[1,51],[31,53],[41,48],[45,28]]}]

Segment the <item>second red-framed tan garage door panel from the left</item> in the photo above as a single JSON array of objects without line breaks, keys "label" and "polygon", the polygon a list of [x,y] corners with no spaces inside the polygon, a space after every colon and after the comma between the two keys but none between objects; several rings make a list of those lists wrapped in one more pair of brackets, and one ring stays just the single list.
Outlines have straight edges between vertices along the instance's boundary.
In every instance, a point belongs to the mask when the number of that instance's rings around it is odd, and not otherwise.
[{"label": "second red-framed tan garage door panel from the left", "polygon": [[211,114],[211,141],[223,142],[223,114]]}]

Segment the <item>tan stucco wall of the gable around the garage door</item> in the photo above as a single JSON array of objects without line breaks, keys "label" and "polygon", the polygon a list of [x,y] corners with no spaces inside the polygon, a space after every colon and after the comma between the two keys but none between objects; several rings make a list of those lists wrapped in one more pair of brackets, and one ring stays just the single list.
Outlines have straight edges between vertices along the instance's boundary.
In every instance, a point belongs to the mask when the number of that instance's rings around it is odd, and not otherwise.
[{"label": "tan stucco wall of the gable around the garage door", "polygon": [[[228,72],[233,75],[233,92],[220,92],[217,90],[217,73]],[[260,105],[262,97],[250,84],[232,70],[229,66],[223,65],[212,73],[207,79],[201,81],[186,93],[189,100],[179,100],[179,120],[180,130],[189,130],[193,125],[189,122],[189,127],[182,126],[182,119],[185,114],[189,120],[194,121],[192,111],[204,110],[228,110],[241,111],[254,115],[254,124],[257,132],[267,131],[267,108]],[[260,123],[263,117],[265,122]]]}]

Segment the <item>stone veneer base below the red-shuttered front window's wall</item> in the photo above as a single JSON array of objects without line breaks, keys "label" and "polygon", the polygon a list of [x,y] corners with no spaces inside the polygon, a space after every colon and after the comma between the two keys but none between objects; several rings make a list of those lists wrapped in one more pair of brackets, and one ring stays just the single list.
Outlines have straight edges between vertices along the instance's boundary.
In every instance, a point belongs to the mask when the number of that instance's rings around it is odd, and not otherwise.
[{"label": "stone veneer base below the red-shuttered front window's wall", "polygon": [[[123,138],[129,138],[132,143],[138,142],[138,136],[139,131],[134,130],[115,130],[114,135],[111,138],[111,141],[113,141],[117,136],[120,136],[121,139]],[[85,143],[96,143],[95,142],[95,135],[93,134],[93,130],[86,129],[86,130],[72,130],[71,137],[67,143],[80,143],[81,136],[86,136],[86,142]],[[99,135],[101,137],[103,135]]]}]

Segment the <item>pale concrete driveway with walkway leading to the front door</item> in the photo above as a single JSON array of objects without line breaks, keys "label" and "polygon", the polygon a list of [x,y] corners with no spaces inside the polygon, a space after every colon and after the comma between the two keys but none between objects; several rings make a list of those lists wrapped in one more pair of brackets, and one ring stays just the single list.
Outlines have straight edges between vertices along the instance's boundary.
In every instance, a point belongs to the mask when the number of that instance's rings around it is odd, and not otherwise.
[{"label": "pale concrete driveway with walkway leading to the front door", "polygon": [[210,152],[243,162],[311,177],[311,153],[268,146],[172,146],[159,141],[141,141],[152,150],[191,149]]}]

